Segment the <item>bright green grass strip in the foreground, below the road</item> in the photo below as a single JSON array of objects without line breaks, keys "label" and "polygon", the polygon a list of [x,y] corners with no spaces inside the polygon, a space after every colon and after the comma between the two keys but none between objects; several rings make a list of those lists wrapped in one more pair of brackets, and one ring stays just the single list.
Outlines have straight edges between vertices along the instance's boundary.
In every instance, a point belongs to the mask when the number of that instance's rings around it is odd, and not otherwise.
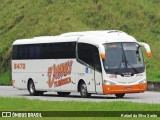
[{"label": "bright green grass strip in the foreground, below the road", "polygon": [[[75,101],[42,101],[29,100],[26,98],[6,98],[0,97],[0,111],[160,111],[160,104],[142,104],[133,102],[75,102]],[[107,100],[106,100],[107,101]],[[2,119],[2,118],[0,118]],[[4,118],[3,118],[4,119]],[[22,118],[11,118],[22,119]],[[28,118],[23,118],[28,119]],[[33,119],[33,118],[30,118]],[[38,120],[53,119],[51,117],[34,118]],[[94,120],[104,119],[103,117],[54,117],[56,119],[67,120]],[[158,120],[158,118],[120,118],[106,117],[111,120]]]}]

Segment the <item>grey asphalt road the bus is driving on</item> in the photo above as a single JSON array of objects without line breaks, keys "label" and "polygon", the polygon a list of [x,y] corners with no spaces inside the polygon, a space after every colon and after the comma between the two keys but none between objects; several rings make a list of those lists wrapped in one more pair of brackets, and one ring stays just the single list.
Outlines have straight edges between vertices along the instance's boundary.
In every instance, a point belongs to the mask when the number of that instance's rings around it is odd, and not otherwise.
[{"label": "grey asphalt road the bus is driving on", "polygon": [[117,99],[114,95],[92,95],[91,98],[81,98],[80,94],[72,93],[67,97],[59,97],[55,92],[46,92],[43,96],[30,96],[27,90],[17,90],[11,86],[0,86],[0,96],[17,97],[28,99],[39,99],[48,101],[82,101],[82,102],[111,102],[111,101],[130,101],[139,103],[160,103],[160,92],[145,92],[126,94],[124,98]]}]

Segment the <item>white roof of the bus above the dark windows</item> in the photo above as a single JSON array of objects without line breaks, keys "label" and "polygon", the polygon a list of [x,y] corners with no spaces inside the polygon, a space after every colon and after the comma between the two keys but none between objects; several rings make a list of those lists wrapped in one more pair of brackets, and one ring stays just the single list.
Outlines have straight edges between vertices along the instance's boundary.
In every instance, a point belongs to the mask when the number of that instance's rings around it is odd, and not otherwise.
[{"label": "white roof of the bus above the dark windows", "polygon": [[[79,39],[80,38],[80,39]],[[69,32],[58,36],[40,36],[30,39],[16,40],[13,45],[54,43],[54,42],[83,42],[94,45],[110,42],[137,42],[136,39],[125,32],[118,30]]]}]

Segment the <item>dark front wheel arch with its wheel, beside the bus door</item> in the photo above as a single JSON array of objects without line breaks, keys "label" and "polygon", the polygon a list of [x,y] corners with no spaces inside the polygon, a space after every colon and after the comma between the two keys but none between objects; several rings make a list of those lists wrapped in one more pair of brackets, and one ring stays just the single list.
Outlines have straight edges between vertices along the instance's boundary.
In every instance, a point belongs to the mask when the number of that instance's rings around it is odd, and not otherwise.
[{"label": "dark front wheel arch with its wheel, beside the bus door", "polygon": [[82,79],[78,82],[78,92],[80,92],[83,98],[91,97],[91,94],[87,91],[86,83]]}]

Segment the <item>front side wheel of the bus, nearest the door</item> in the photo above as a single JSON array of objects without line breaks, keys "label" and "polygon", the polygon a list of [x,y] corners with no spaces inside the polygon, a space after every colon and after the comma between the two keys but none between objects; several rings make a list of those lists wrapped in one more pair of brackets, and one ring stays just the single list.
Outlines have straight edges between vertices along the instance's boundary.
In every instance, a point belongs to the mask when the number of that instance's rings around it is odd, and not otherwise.
[{"label": "front side wheel of the bus, nearest the door", "polygon": [[91,97],[91,94],[87,92],[87,86],[84,82],[80,84],[80,94],[83,98]]}]

